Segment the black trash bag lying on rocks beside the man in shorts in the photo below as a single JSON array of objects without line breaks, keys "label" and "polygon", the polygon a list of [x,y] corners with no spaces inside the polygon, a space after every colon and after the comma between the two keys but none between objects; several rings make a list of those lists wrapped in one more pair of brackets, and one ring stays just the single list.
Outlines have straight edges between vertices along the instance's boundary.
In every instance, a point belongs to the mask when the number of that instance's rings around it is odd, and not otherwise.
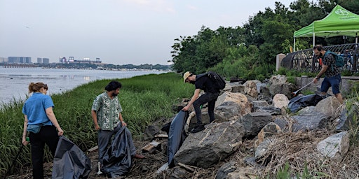
[{"label": "black trash bag lying on rocks beside the man in shorts", "polygon": [[322,99],[324,99],[323,96],[320,96],[319,94],[296,96],[293,99],[290,99],[288,108],[292,113],[297,113],[298,110],[305,108],[306,106],[316,106]]}]

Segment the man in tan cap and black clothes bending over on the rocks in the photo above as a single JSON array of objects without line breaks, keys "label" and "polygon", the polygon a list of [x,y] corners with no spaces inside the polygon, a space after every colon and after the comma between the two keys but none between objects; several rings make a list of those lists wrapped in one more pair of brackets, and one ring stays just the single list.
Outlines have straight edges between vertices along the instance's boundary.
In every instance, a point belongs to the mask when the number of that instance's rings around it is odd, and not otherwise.
[{"label": "man in tan cap and black clothes bending over on the rocks", "polygon": [[[210,122],[215,120],[215,103],[217,101],[219,90],[215,88],[215,83],[210,79],[210,77],[200,74],[196,76],[195,74],[187,71],[183,75],[184,83],[194,84],[196,90],[194,90],[194,95],[191,100],[188,102],[187,106],[184,106],[182,110],[187,111],[189,107],[193,104],[194,111],[196,113],[197,124],[194,129],[191,130],[191,133],[196,133],[203,131],[205,129],[202,122],[202,113],[201,106],[205,103],[208,103],[208,115],[210,116]],[[199,93],[203,90],[205,93],[199,96]]]}]

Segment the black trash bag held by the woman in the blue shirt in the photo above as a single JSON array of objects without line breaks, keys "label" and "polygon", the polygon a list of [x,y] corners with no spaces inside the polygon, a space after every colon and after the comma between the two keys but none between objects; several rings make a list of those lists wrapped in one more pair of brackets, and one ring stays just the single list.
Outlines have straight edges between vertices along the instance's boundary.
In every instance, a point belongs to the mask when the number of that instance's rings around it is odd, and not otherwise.
[{"label": "black trash bag held by the woman in the blue shirt", "polygon": [[60,136],[53,159],[53,179],[88,178],[90,158],[72,141]]}]

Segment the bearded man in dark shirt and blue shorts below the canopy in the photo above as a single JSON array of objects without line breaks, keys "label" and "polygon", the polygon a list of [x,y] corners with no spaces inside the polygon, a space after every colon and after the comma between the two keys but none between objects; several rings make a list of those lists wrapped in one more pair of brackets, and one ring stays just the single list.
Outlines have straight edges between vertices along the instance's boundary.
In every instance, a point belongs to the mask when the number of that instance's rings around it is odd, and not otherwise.
[{"label": "bearded man in dark shirt and blue shorts below the canopy", "polygon": [[325,50],[322,45],[316,45],[313,47],[313,52],[318,58],[323,59],[322,69],[320,69],[316,78],[313,79],[314,83],[317,83],[320,76],[325,74],[322,85],[320,87],[320,94],[325,95],[332,87],[332,92],[340,103],[343,103],[343,97],[339,91],[339,85],[341,82],[340,69],[335,65],[335,57],[331,54],[325,54]]}]

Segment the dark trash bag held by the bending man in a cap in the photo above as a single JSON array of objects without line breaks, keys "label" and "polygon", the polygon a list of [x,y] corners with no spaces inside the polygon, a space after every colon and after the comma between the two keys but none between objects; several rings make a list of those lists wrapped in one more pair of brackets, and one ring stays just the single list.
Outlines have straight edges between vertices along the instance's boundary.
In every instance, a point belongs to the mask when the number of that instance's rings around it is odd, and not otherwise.
[{"label": "dark trash bag held by the bending man in a cap", "polygon": [[181,110],[171,122],[168,133],[168,166],[174,165],[173,157],[187,138],[186,131],[184,130],[187,117],[188,112]]}]

